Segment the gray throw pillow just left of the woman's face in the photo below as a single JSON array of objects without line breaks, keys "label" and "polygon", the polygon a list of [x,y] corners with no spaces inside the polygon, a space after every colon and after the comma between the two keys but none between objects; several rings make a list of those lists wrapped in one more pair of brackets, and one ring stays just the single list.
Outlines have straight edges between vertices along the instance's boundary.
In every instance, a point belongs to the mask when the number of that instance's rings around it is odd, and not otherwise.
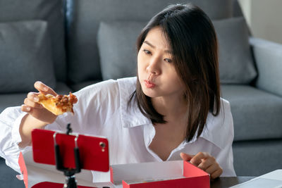
[{"label": "gray throw pillow just left of the woman's face", "polygon": [[146,23],[101,23],[97,36],[102,79],[118,79],[137,73],[136,39]]}]

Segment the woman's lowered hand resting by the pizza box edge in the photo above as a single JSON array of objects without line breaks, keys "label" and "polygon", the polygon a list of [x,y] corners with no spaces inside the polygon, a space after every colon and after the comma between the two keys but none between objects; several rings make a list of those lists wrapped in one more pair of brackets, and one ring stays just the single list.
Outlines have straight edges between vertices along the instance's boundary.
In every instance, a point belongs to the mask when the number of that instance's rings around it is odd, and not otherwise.
[{"label": "woman's lowered hand resting by the pizza box edge", "polygon": [[219,177],[223,172],[219,163],[216,162],[216,159],[207,152],[199,152],[195,156],[187,153],[180,153],[180,156],[183,161],[190,161],[192,165],[195,165],[197,168],[209,173],[212,179]]}]

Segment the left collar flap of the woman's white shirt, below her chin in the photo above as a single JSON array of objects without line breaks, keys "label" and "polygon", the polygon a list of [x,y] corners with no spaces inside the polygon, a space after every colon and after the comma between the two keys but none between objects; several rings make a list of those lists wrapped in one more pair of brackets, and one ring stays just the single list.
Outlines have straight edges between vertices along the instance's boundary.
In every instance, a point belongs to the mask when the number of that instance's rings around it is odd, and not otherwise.
[{"label": "left collar flap of the woman's white shirt, below her chin", "polygon": [[[121,103],[121,124],[123,127],[136,127],[152,124],[152,121],[141,113],[136,102],[133,102],[128,106],[128,100],[136,89],[136,81],[137,77],[118,79]],[[135,99],[135,96],[133,99]]]}]

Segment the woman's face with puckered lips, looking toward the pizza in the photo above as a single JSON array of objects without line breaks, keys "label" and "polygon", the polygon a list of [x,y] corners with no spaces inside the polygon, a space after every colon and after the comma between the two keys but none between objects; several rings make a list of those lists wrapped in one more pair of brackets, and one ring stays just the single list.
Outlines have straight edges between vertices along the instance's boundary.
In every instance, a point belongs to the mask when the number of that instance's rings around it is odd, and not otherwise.
[{"label": "woman's face with puckered lips, looking toward the pizza", "polygon": [[160,27],[152,28],[137,56],[142,91],[149,97],[180,97],[184,87],[176,73],[171,46]]}]

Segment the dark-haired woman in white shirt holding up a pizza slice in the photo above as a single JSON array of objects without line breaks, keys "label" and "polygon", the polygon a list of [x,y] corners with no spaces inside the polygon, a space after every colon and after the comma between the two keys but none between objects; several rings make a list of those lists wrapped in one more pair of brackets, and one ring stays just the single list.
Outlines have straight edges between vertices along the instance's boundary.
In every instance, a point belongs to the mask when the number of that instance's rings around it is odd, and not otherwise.
[{"label": "dark-haired woman in white shirt holding up a pizza slice", "polygon": [[[75,95],[75,115],[56,116],[30,92],[24,105],[1,113],[1,156],[18,170],[16,156],[34,128],[103,135],[110,163],[190,161],[212,179],[235,175],[233,120],[220,98],[217,39],[197,6],[168,6],[137,39],[137,77],[94,84]],[[56,92],[35,82],[44,94]],[[99,182],[100,180],[94,180]]]}]

